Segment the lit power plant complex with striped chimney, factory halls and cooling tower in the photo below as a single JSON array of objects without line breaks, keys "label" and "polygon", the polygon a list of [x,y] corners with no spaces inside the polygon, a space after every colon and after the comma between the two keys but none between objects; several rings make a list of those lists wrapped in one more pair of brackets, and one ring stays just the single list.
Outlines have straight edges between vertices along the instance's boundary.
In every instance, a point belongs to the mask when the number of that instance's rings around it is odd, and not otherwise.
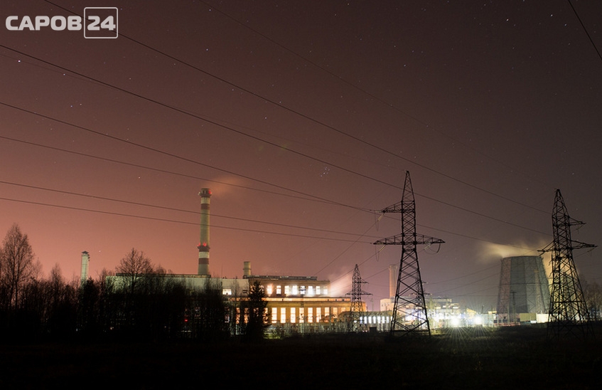
[{"label": "lit power plant complex with striped chimney, factory halls and cooling tower", "polygon": [[[275,334],[295,334],[312,332],[346,332],[350,330],[352,298],[330,294],[330,281],[318,280],[316,276],[256,275],[251,262],[244,261],[242,278],[213,278],[210,274],[210,189],[202,189],[200,202],[200,241],[198,243],[198,272],[193,274],[166,273],[159,276],[184,285],[188,290],[202,291],[207,288],[220,288],[232,307],[240,307],[250,286],[256,281],[265,292],[267,322],[269,332]],[[87,280],[90,255],[82,252],[81,280]],[[399,265],[389,266],[389,298],[380,300],[380,310],[367,312],[365,302],[361,302],[360,314],[354,321],[360,322],[362,330],[387,332],[392,322],[393,299],[396,295]],[[126,275],[110,276],[114,285],[127,283]],[[518,256],[502,259],[498,317],[500,323],[534,320],[537,314],[547,312],[549,289],[539,256]],[[412,297],[407,297],[411,302]],[[425,293],[429,319],[434,329],[459,325],[476,325],[481,315],[461,312],[460,305],[451,297],[437,297]],[[407,303],[404,312],[412,312],[414,307]],[[239,309],[236,309],[239,310]],[[529,314],[527,314],[529,313]],[[485,321],[485,320],[481,320]],[[493,323],[493,320],[491,322]],[[479,325],[485,325],[480,322]],[[237,327],[232,327],[236,329]],[[355,327],[354,329],[358,329]]]}]

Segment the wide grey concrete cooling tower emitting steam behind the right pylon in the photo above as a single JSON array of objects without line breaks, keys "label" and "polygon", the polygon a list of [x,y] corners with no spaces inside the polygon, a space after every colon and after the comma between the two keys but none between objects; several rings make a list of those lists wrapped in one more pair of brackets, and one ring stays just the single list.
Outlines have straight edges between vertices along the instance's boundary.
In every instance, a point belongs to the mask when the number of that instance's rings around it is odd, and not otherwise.
[{"label": "wide grey concrete cooling tower emitting steam behind the right pylon", "polygon": [[498,322],[517,322],[521,313],[548,311],[549,285],[540,256],[502,258]]}]

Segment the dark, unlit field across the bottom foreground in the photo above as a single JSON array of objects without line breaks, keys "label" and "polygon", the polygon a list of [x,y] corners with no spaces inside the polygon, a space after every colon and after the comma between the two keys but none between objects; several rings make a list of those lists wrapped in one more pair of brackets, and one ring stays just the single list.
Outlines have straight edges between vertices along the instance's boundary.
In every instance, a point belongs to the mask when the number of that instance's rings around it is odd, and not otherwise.
[{"label": "dark, unlit field across the bottom foreground", "polygon": [[545,328],[508,327],[259,344],[4,345],[0,389],[601,389],[601,338],[549,343]]}]

